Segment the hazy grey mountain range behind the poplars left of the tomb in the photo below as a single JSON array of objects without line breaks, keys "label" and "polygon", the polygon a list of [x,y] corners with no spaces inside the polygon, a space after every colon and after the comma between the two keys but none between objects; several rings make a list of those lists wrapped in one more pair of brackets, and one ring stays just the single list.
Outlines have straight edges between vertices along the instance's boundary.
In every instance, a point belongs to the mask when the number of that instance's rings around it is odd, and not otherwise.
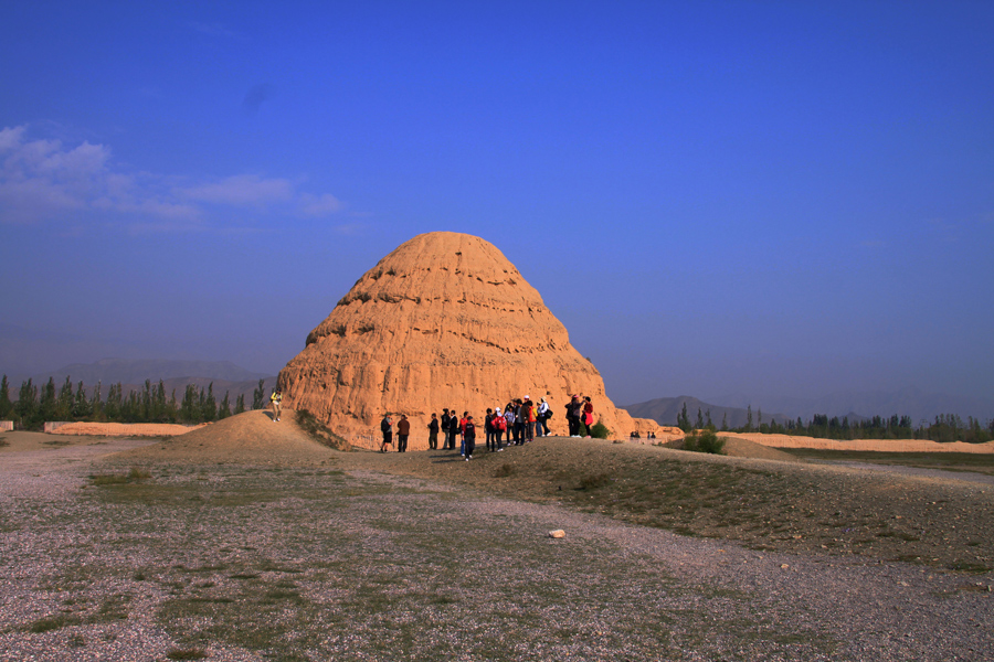
[{"label": "hazy grey mountain range behind the poplars left of the tomb", "polygon": [[[231,404],[239,395],[245,396],[245,404],[252,405],[252,393],[258,387],[258,381],[263,380],[263,387],[268,394],[276,386],[276,376],[265,373],[255,373],[230,361],[166,361],[141,360],[129,361],[126,359],[104,359],[96,363],[73,363],[52,373],[43,373],[31,377],[39,386],[45,384],[52,377],[55,386],[60,387],[68,377],[73,385],[81,381],[87,393],[93,393],[94,386],[101,384],[102,397],[107,396],[112,384],[120,383],[125,395],[131,391],[140,391],[145,387],[145,381],[150,380],[152,385],[158,385],[159,380],[166,387],[166,393],[176,391],[177,399],[181,399],[187,384],[193,384],[198,389],[207,389],[213,383],[214,396],[220,399],[228,392]],[[11,383],[11,395],[17,396],[20,383]]]}]

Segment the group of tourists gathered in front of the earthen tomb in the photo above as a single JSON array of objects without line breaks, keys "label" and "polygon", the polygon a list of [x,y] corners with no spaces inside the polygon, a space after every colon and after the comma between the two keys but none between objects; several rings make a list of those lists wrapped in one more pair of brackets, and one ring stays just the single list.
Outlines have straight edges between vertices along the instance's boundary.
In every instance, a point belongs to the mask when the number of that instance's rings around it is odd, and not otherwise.
[{"label": "group of tourists gathered in front of the earthen tomb", "polygon": [[[586,428],[586,437],[593,427],[593,403],[590,396],[581,398],[572,396],[565,405],[567,424],[570,437],[580,436],[580,424]],[[522,446],[535,441],[536,437],[548,437],[549,419],[552,418],[552,409],[544,397],[538,404],[531,397],[512,399],[501,409],[488,408],[484,417],[484,435],[486,448],[489,452],[503,451],[506,447]],[[438,450],[438,435],[442,435],[442,450],[455,450],[456,439],[459,445],[459,456],[466,461],[473,459],[476,450],[476,420],[469,412],[463,412],[459,416],[456,409],[443,408],[440,419],[437,414],[432,414],[429,423],[429,450]],[[393,444],[393,418],[388,414],[380,423],[383,433],[383,441],[380,444],[380,452],[387,452],[387,447]],[[411,434],[411,421],[406,415],[401,415],[396,424],[396,450],[406,452],[408,437]]]}]

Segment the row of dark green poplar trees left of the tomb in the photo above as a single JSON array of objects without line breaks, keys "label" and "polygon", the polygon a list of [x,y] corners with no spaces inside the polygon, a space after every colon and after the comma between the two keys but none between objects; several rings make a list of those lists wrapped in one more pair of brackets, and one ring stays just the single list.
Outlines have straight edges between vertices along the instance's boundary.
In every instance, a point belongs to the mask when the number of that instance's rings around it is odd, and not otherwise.
[{"label": "row of dark green poplar trees left of the tomb", "polygon": [[[152,384],[146,380],[142,388],[124,391],[120,382],[107,388],[103,385],[87,389],[83,382],[73,385],[70,377],[62,387],[49,377],[41,388],[31,380],[21,383],[17,399],[11,398],[7,375],[0,380],[0,419],[13,420],[22,429],[41,429],[46,420],[87,420],[102,423],[182,423],[197,424],[220,420],[245,410],[245,396],[240,394],[234,403],[229,392],[218,402],[214,383],[207,389],[187,384],[181,399],[176,391],[166,394],[160,380]],[[252,408],[262,409],[266,389],[263,380],[252,394]]]}]

